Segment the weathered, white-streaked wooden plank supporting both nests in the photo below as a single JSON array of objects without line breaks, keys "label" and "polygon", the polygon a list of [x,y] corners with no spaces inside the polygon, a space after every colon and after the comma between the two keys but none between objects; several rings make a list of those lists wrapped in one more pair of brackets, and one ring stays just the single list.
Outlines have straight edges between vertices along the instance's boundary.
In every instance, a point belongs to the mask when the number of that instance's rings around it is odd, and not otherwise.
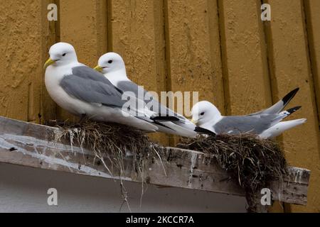
[{"label": "weathered, white-streaked wooden plank supporting both nests", "polygon": [[[0,162],[59,170],[76,174],[118,179],[118,171],[97,163],[90,150],[74,146],[69,141],[55,143],[58,128],[36,125],[0,117]],[[163,148],[161,162],[149,163],[144,181],[166,187],[182,187],[243,196],[238,182],[230,180],[228,173],[221,170],[212,157],[192,150]],[[163,169],[164,168],[164,169]],[[132,167],[132,157],[124,157],[122,179],[142,182]],[[166,171],[166,174],[164,172]],[[309,170],[291,168],[282,184],[272,184],[274,199],[295,204],[306,204]]]}]

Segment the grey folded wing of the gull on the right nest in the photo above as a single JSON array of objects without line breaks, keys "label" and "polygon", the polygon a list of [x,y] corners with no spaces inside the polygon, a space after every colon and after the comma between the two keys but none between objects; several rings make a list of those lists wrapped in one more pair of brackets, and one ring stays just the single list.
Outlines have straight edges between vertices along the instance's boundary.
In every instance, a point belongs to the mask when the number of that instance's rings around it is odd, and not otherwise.
[{"label": "grey folded wing of the gull on the right nest", "polygon": [[282,120],[279,114],[257,116],[225,116],[213,126],[215,133],[252,133],[260,134]]}]

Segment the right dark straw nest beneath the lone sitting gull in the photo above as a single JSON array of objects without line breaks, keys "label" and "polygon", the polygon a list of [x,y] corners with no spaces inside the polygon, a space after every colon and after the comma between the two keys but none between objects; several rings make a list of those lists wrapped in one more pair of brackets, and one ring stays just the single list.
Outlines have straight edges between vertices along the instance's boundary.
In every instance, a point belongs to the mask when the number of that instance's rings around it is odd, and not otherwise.
[{"label": "right dark straw nest beneath the lone sitting gull", "polygon": [[257,209],[260,190],[287,175],[287,162],[276,140],[262,140],[250,134],[200,136],[185,139],[178,147],[215,157],[218,165],[245,190],[247,210],[251,212]]}]

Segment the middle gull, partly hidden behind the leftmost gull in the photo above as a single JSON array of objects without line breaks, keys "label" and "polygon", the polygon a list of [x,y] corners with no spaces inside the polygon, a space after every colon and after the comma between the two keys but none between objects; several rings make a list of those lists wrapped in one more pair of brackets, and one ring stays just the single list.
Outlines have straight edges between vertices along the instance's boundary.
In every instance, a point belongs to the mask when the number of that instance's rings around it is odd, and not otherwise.
[{"label": "middle gull, partly hidden behind the leftmost gull", "polygon": [[[144,101],[150,111],[156,113],[154,124],[160,132],[182,135],[187,137],[196,137],[198,133],[211,133],[210,131],[197,127],[184,116],[175,113],[171,109],[159,103],[143,87],[132,82],[127,77],[126,67],[122,57],[115,52],[107,52],[98,60],[95,70],[102,72],[110,82],[124,92],[132,92],[139,100]],[[161,121],[162,118],[172,118],[172,121]]]}]

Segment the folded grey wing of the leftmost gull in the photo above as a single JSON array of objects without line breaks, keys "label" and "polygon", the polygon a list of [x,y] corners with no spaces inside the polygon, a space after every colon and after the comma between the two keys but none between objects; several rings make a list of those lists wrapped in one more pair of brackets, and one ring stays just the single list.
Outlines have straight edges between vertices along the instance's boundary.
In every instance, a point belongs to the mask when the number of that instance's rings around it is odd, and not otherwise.
[{"label": "folded grey wing of the leftmost gull", "polygon": [[85,79],[78,74],[70,74],[63,77],[60,86],[70,96],[88,103],[117,107],[122,107],[125,103],[122,100],[122,94],[112,84],[93,80],[90,77]]}]

